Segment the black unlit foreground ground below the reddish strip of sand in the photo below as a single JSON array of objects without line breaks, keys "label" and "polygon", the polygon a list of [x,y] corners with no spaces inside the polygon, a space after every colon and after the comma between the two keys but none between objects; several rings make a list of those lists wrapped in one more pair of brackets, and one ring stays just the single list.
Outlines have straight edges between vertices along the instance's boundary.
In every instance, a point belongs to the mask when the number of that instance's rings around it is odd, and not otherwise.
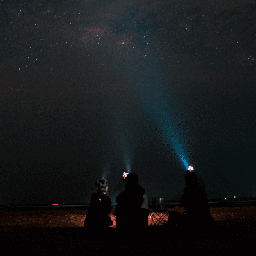
[{"label": "black unlit foreground ground below the reddish strip of sand", "polygon": [[216,230],[207,234],[166,227],[148,227],[146,234],[118,234],[111,229],[99,239],[86,234],[83,227],[15,226],[0,230],[2,252],[19,255],[249,255],[255,250],[255,232],[255,220],[218,222]]}]

